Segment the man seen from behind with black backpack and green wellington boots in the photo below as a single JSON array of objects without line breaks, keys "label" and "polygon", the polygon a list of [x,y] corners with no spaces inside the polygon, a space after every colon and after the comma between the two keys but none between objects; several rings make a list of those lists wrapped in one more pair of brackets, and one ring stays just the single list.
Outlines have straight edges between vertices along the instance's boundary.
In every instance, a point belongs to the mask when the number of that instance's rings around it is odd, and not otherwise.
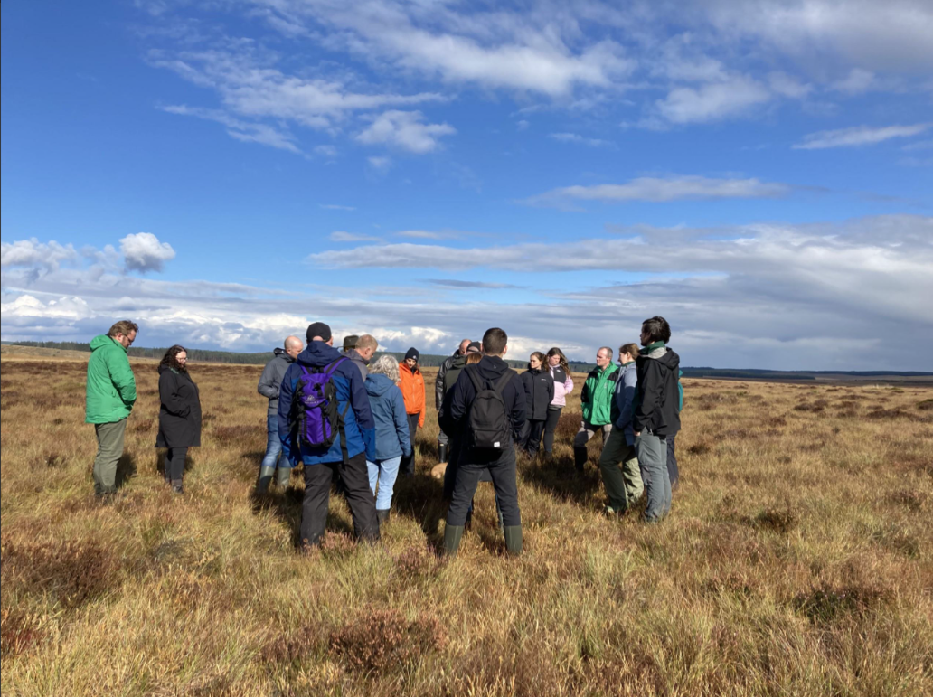
[{"label": "man seen from behind with black backpack and green wellington boots", "polygon": [[456,554],[467,511],[480,473],[493,479],[502,514],[506,549],[522,553],[522,513],[515,479],[515,448],[525,422],[524,389],[518,373],[508,368],[508,335],[490,328],[482,337],[482,359],[468,366],[453,385],[449,418],[460,426],[461,446],[453,497],[444,528],[444,550]]}]

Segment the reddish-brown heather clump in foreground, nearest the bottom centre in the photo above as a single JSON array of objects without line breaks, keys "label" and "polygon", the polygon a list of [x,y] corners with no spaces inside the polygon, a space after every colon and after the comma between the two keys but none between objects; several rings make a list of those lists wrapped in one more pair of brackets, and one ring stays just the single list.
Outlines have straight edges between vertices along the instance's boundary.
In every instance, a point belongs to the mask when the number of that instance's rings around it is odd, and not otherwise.
[{"label": "reddish-brown heather clump in foreground, nearest the bottom centre", "polygon": [[330,634],[329,644],[350,668],[370,673],[443,650],[447,634],[436,617],[408,621],[396,610],[370,610]]}]

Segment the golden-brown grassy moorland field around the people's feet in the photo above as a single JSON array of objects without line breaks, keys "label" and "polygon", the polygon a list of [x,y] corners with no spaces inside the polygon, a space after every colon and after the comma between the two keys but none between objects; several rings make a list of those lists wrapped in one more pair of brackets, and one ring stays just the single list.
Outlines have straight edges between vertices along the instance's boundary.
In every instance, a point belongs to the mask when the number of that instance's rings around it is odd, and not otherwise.
[{"label": "golden-brown grassy moorland field around the people's feet", "polygon": [[176,496],[133,366],[127,479],[98,506],[85,364],[4,353],[4,695],[933,693],[931,388],[685,381],[659,525],[602,516],[598,439],[573,471],[578,388],[556,461],[520,464],[522,557],[482,484],[447,561],[433,409],[383,543],[333,495],[301,556],[299,474],[251,497],[260,367],[190,367],[204,446]]}]

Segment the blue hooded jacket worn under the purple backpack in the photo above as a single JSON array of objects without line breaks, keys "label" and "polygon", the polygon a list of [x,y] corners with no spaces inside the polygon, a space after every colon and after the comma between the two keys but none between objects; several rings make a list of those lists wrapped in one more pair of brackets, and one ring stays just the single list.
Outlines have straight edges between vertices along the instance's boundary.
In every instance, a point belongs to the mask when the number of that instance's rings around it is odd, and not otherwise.
[{"label": "blue hooded jacket worn under the purple backpack", "polygon": [[[292,397],[295,387],[301,377],[301,367],[324,368],[341,358],[340,351],[325,342],[308,342],[308,348],[302,351],[295,362],[288,366],[282,377],[282,386],[279,388],[279,439],[282,440],[282,452],[292,466],[299,462],[305,465],[319,465],[324,462],[342,462],[341,437],[338,435],[331,446],[325,448],[308,448],[301,446],[300,452],[295,445],[293,424],[289,421],[289,412],[292,406]],[[343,417],[343,428],[346,434],[347,457],[355,457],[359,453],[366,453],[368,460],[376,456],[376,425],[372,420],[372,411],[369,409],[369,397],[366,386],[349,358],[343,360],[333,372],[331,378],[337,388],[337,408],[341,413],[346,410]],[[350,408],[346,409],[347,402]]]}]

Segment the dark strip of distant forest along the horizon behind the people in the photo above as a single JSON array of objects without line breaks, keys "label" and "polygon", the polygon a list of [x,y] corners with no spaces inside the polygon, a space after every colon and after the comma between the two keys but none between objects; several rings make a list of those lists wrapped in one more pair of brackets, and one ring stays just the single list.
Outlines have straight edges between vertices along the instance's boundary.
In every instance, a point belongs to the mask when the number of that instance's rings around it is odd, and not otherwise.
[{"label": "dark strip of distant forest along the horizon behind the people", "polygon": [[[91,345],[82,342],[4,342],[16,346],[34,346],[36,348],[63,349],[66,351],[91,351]],[[129,354],[137,358],[161,358],[165,354],[165,348],[145,348],[143,346],[131,346]],[[377,353],[376,357],[386,355]],[[404,353],[388,352],[387,355],[394,355],[399,361],[405,357]],[[422,354],[421,365],[425,368],[438,368],[441,363],[449,356]],[[235,351],[212,351],[209,349],[188,349],[188,359],[192,361],[202,361],[204,363],[235,363],[240,365],[264,365],[272,358],[272,351],[263,351],[258,354],[243,354]],[[508,365],[512,368],[525,368],[527,362],[524,360],[509,360]],[[595,368],[594,363],[584,363],[583,361],[569,361],[570,368],[574,372],[589,372]],[[884,375],[898,376],[904,378],[915,377],[933,377],[933,372],[923,370],[764,370],[764,369],[729,369],[729,368],[684,368],[685,378],[740,378],[746,380],[816,380],[820,376],[844,375],[850,378],[872,378],[883,377]]]}]

